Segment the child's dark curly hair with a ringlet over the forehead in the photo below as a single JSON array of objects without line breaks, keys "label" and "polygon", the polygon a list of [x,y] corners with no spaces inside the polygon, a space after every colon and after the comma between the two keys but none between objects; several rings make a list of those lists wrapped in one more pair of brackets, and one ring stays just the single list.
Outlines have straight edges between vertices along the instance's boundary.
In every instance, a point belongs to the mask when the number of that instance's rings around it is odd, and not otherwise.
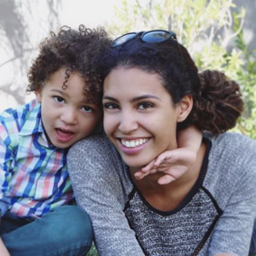
[{"label": "child's dark curly hair with a ringlet over the forehead", "polygon": [[32,61],[26,91],[42,89],[53,73],[61,67],[66,67],[66,78],[62,89],[67,88],[70,72],[79,72],[84,78],[86,98],[90,102],[101,102],[100,60],[110,42],[107,32],[100,26],[90,29],[80,25],[78,31],[69,26],[62,26],[57,34],[50,32],[50,38],[45,38],[41,42],[39,55]]}]

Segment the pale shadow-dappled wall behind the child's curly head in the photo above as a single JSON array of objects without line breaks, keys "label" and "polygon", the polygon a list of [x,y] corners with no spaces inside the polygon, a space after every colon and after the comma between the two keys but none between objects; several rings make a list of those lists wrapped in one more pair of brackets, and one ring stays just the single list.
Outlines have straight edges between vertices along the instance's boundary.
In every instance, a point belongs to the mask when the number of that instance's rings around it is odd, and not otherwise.
[{"label": "pale shadow-dappled wall behind the child's curly head", "polygon": [[[114,16],[117,0],[0,0],[0,112],[23,104],[26,72],[38,55],[38,44],[61,26],[104,26]],[[23,42],[22,42],[23,41]]]}]

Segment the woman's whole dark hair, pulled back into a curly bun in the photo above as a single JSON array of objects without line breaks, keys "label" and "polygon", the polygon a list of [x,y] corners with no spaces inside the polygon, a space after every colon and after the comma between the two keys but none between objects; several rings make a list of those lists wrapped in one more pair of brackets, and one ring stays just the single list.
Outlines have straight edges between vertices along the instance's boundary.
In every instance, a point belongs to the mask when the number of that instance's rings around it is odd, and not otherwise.
[{"label": "woman's whole dark hair, pulled back into a curly bun", "polygon": [[145,43],[140,37],[113,47],[104,59],[104,77],[116,67],[138,67],[148,73],[158,73],[166,91],[177,106],[183,96],[193,97],[193,108],[187,119],[177,123],[182,130],[196,125],[201,131],[218,135],[233,128],[243,110],[239,84],[224,73],[198,73],[189,51],[177,40],[169,38],[161,43]]}]

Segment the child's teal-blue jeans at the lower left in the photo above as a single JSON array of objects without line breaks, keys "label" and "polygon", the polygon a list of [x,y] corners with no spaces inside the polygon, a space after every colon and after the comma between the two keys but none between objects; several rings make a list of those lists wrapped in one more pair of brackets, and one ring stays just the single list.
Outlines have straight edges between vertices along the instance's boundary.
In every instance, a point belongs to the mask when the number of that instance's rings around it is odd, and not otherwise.
[{"label": "child's teal-blue jeans at the lower left", "polygon": [[56,207],[32,222],[6,212],[0,235],[12,256],[85,255],[92,242],[90,218],[75,206]]}]

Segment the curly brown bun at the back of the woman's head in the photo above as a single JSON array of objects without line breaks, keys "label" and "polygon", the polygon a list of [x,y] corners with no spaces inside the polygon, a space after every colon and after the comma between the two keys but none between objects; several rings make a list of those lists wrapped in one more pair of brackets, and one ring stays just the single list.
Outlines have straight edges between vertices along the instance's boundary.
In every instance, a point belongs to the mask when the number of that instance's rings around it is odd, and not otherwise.
[{"label": "curly brown bun at the back of the woman's head", "polygon": [[239,84],[216,70],[199,73],[199,78],[201,93],[195,102],[195,125],[213,134],[235,127],[243,111]]}]

